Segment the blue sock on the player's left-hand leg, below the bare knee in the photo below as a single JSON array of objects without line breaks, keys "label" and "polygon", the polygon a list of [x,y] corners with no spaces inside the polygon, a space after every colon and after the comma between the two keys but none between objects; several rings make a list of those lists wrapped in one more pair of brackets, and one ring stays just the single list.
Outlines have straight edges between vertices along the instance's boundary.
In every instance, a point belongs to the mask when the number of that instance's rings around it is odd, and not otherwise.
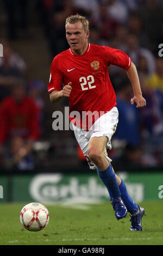
[{"label": "blue sock on the player's left-hand leg, below the bare knee", "polygon": [[106,188],[108,189],[110,200],[114,197],[120,197],[121,192],[118,187],[115,173],[112,171],[112,166],[109,164],[109,167],[105,170],[98,170],[97,173],[101,180],[104,182]]}]

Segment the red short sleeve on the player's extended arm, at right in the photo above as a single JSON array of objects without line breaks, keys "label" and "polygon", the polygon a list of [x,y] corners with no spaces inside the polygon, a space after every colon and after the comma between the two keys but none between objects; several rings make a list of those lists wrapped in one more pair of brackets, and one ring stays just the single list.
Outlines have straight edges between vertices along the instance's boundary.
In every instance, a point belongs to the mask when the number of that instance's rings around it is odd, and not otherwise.
[{"label": "red short sleeve on the player's extended arm, at right", "polygon": [[123,51],[105,46],[108,65],[116,65],[120,68],[128,70],[131,65],[130,57]]}]

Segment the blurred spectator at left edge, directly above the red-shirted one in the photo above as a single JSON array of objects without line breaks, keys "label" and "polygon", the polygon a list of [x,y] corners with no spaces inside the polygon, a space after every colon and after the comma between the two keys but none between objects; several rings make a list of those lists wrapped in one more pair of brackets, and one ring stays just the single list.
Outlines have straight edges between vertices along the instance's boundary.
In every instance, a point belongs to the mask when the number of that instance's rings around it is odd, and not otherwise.
[{"label": "blurred spectator at left edge, directly above the red-shirted one", "polygon": [[3,57],[0,57],[0,101],[10,94],[14,84],[24,78],[26,64],[14,53],[8,42],[2,40]]}]

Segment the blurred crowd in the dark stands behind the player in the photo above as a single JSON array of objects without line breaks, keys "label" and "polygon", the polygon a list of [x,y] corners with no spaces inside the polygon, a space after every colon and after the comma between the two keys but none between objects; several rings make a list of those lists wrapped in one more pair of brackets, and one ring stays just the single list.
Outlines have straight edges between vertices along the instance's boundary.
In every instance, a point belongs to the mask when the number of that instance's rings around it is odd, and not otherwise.
[{"label": "blurred crowd in the dark stands behind the player", "polygon": [[[108,152],[114,169],[127,173],[162,170],[163,58],[159,57],[159,44],[163,43],[163,1],[1,0],[2,177],[90,172],[73,131],[52,129],[53,112],[64,113],[67,100],[53,105],[47,92],[52,60],[68,48],[65,19],[77,13],[90,21],[91,44],[118,48],[130,56],[147,101],[142,109],[130,105],[133,91],[126,71],[109,67],[120,113]],[[4,182],[12,185],[11,179]]]}]

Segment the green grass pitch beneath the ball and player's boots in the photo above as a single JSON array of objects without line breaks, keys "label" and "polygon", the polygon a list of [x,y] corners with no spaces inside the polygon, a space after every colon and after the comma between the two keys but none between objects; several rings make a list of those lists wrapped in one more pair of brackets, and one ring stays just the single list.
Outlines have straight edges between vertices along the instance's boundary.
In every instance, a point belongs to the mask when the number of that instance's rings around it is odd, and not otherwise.
[{"label": "green grass pitch beneath the ball and player's boots", "polygon": [[47,227],[31,232],[19,220],[26,204],[1,204],[0,245],[163,245],[162,200],[140,204],[143,231],[130,231],[129,214],[117,221],[108,202],[87,210],[46,205]]}]

